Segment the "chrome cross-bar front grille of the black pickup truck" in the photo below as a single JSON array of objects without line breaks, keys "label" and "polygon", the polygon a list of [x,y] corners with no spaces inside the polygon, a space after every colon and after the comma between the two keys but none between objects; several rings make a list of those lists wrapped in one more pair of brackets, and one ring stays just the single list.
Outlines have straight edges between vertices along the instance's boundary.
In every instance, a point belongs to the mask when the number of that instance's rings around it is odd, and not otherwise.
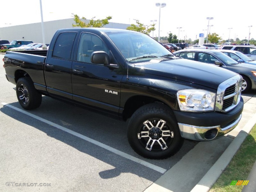
[{"label": "chrome cross-bar front grille of the black pickup truck", "polygon": [[236,75],[222,82],[217,90],[215,111],[228,112],[240,102],[242,77]]}]

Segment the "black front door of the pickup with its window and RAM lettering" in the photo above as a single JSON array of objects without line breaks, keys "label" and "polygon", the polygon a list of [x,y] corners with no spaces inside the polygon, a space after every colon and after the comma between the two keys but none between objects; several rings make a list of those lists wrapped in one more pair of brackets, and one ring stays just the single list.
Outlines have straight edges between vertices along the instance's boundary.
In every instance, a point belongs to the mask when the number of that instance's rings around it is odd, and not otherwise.
[{"label": "black front door of the pickup with its window and RAM lettering", "polygon": [[111,69],[103,64],[92,63],[91,54],[94,51],[105,51],[110,54],[99,36],[81,33],[76,61],[72,63],[73,100],[118,112],[123,74],[120,73],[121,69]]}]

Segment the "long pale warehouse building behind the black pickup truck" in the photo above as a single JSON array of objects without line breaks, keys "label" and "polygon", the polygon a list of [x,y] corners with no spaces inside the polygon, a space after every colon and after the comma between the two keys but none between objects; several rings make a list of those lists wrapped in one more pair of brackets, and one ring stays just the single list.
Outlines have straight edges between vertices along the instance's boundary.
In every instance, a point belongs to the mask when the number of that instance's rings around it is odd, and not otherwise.
[{"label": "long pale warehouse building behind the black pickup truck", "polygon": [[[72,24],[76,24],[73,18],[44,22],[45,44],[50,44],[53,35],[58,29],[73,28]],[[104,28],[126,29],[128,26],[130,25],[109,22]],[[31,40],[34,43],[43,43],[42,25],[41,23],[32,23],[1,27],[0,39],[9,40],[10,42],[12,40]]]}]

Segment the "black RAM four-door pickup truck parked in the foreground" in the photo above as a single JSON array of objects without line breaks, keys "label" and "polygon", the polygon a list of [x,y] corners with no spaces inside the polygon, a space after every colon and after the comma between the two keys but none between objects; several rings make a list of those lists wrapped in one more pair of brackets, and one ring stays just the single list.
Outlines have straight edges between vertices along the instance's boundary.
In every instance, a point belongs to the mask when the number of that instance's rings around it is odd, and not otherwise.
[{"label": "black RAM four-door pickup truck parked in the foreground", "polygon": [[7,51],[4,68],[24,109],[47,95],[129,120],[129,143],[146,158],[175,154],[184,138],[224,135],[243,110],[239,74],[176,57],[135,31],[60,29],[48,50]]}]

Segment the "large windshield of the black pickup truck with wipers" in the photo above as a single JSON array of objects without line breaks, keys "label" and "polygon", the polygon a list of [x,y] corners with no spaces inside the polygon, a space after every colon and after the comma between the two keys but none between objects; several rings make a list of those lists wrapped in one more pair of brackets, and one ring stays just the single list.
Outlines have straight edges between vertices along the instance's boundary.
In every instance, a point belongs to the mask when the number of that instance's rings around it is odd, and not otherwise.
[{"label": "large windshield of the black pickup truck with wipers", "polygon": [[[107,33],[124,58],[131,62],[168,55],[175,57],[163,45],[142,33]],[[162,58],[163,59],[163,58]]]}]

